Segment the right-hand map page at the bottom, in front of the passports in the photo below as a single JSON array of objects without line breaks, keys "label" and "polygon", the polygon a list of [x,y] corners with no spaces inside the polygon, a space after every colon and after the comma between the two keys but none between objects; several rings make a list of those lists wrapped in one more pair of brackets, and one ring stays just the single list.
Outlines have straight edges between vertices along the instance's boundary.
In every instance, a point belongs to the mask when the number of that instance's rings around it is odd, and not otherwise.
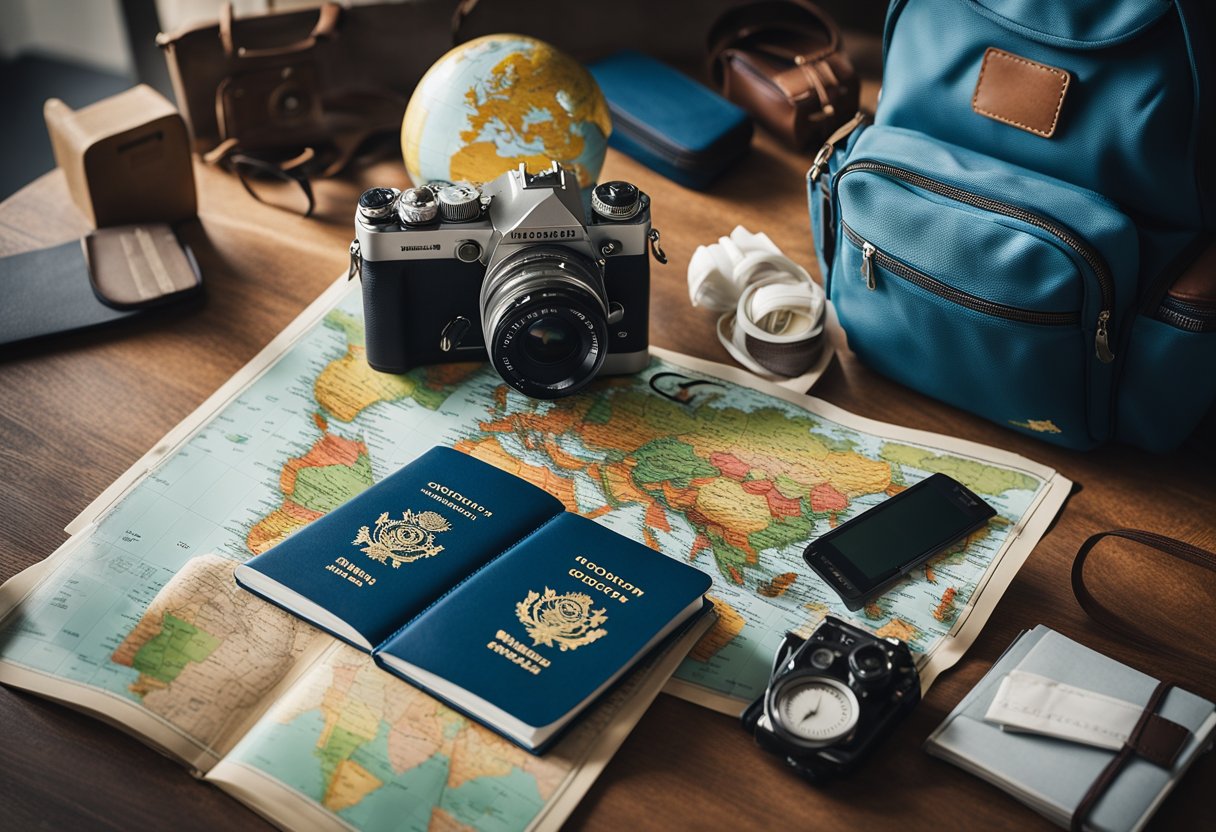
[{"label": "right-hand map page at the bottom, in front of the passports", "polygon": [[274,772],[362,830],[523,830],[582,764],[635,684],[636,676],[614,688],[536,757],[340,645],[229,760]]}]

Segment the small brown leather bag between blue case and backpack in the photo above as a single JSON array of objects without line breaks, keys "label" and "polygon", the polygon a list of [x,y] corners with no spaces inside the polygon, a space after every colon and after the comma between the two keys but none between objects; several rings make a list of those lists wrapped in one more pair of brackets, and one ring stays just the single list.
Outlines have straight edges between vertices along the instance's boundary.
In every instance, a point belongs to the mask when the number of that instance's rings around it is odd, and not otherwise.
[{"label": "small brown leather bag between blue case and backpack", "polygon": [[857,112],[860,84],[840,30],[811,2],[733,9],[709,44],[710,77],[722,95],[795,150],[821,145]]}]

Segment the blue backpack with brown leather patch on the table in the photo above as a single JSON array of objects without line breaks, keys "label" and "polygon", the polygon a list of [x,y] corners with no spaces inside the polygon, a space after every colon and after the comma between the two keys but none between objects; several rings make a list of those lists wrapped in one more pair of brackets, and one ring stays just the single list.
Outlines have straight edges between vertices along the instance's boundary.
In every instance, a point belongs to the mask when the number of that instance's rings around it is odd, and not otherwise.
[{"label": "blue backpack with brown leather patch on the table", "polygon": [[1077,449],[1216,400],[1216,67],[1189,0],[895,0],[873,125],[807,174],[871,367]]}]

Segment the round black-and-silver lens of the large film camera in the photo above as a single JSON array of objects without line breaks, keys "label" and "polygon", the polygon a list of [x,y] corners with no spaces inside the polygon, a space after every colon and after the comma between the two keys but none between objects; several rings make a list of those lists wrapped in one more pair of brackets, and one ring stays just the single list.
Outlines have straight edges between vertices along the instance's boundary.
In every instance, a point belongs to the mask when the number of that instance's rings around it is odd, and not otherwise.
[{"label": "round black-and-silver lens of the large film camera", "polygon": [[502,378],[536,399],[579,390],[608,350],[603,277],[570,249],[520,249],[485,275],[482,330]]}]

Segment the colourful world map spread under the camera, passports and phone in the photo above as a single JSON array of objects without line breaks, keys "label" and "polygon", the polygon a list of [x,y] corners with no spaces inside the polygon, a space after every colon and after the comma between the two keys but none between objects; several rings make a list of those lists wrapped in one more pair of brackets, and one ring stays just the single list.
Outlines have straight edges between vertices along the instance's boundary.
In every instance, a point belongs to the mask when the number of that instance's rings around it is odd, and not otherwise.
[{"label": "colourful world map spread under the camera, passports and phone", "polygon": [[[482,364],[385,376],[366,362],[360,297],[348,292],[97,518],[23,600],[22,614],[5,620],[0,659],[123,697],[216,757],[260,692],[300,671],[229,755],[232,765],[360,828],[382,828],[390,805],[390,819],[412,806],[407,826],[418,828],[444,817],[446,826],[519,828],[574,763],[531,768],[529,755],[353,651],[305,660],[320,648],[286,617],[249,628],[258,633],[224,625],[249,601],[224,569],[430,446],[454,446],[713,575],[719,622],[672,690],[738,713],[762,690],[784,633],[809,633],[828,613],[905,639],[928,662],[1051,476],[888,428],[663,358],[557,401],[528,399]],[[801,563],[803,547],[933,472],[970,487],[998,517],[850,613]],[[248,620],[249,611],[235,614]],[[248,675],[252,665],[258,673]],[[235,678],[243,688],[220,684]],[[190,703],[199,690],[208,707]],[[424,736],[410,740],[411,731]],[[407,800],[404,781],[417,786]]]}]

